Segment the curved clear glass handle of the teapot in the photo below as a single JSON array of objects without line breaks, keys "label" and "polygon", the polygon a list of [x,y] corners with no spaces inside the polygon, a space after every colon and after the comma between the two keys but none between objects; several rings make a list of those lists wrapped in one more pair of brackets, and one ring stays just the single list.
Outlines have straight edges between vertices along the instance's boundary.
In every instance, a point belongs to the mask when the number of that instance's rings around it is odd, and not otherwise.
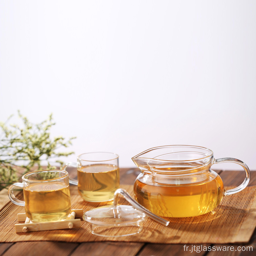
[{"label": "curved clear glass handle of the teapot", "polygon": [[214,159],[213,164],[221,164],[221,163],[226,163],[226,162],[241,165],[244,168],[246,177],[245,177],[245,179],[244,179],[244,181],[241,185],[239,185],[236,188],[232,188],[232,189],[229,189],[229,190],[225,191],[225,193],[224,193],[225,196],[232,195],[232,194],[235,194],[237,192],[240,192],[241,190],[243,190],[248,185],[249,180],[250,180],[250,170],[249,170],[248,166],[241,160],[238,160],[236,158],[226,157],[226,158]]}]

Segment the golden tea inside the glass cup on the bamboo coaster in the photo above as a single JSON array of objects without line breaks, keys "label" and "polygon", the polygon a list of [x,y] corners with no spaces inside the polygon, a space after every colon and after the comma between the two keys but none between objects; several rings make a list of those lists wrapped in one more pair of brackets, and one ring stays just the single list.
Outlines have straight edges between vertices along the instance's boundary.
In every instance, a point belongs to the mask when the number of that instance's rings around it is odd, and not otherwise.
[{"label": "golden tea inside the glass cup on the bamboo coaster", "polygon": [[26,215],[30,220],[62,220],[70,213],[69,185],[64,182],[31,183],[23,193]]}]

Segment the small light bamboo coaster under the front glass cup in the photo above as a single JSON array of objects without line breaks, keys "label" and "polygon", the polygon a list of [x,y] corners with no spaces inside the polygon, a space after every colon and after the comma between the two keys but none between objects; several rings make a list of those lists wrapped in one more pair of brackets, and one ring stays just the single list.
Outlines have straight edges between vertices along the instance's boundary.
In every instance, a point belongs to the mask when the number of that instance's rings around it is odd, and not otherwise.
[{"label": "small light bamboo coaster under the front glass cup", "polygon": [[83,209],[72,209],[66,220],[49,221],[49,222],[32,222],[26,213],[18,213],[18,221],[25,223],[15,224],[15,232],[31,232],[66,228],[81,228],[81,220],[76,218],[83,217]]}]

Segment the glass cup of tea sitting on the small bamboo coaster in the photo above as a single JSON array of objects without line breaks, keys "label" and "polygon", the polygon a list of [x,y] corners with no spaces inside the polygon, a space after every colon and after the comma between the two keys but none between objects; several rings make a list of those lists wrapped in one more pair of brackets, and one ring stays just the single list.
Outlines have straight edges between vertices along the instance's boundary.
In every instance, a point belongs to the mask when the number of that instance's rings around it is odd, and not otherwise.
[{"label": "glass cup of tea sitting on the small bamboo coaster", "polygon": [[[24,201],[13,194],[14,187],[23,188]],[[68,172],[43,170],[22,176],[22,183],[10,186],[12,203],[25,206],[27,217],[34,222],[64,220],[71,210]]]}]

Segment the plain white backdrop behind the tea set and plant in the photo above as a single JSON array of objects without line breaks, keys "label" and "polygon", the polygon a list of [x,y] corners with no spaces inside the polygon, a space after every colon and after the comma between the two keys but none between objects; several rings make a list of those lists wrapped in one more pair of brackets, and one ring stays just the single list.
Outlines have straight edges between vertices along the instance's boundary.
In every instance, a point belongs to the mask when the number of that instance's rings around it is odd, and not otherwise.
[{"label": "plain white backdrop behind the tea set and plant", "polygon": [[68,161],[187,144],[256,169],[255,86],[256,1],[0,0],[0,121],[52,112]]}]

